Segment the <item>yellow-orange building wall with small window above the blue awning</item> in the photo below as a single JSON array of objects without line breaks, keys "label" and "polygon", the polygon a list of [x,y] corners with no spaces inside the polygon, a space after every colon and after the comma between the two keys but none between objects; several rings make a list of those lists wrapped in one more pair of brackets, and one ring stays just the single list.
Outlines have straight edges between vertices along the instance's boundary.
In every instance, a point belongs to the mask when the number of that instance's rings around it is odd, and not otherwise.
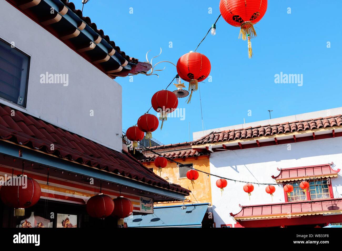
[{"label": "yellow-orange building wall with small window above the blue awning", "polygon": [[[174,159],[175,161],[182,164],[193,164],[193,167],[197,170],[205,171],[210,173],[209,157],[199,156],[197,159],[190,157],[183,159]],[[159,176],[158,168],[154,165],[154,162],[146,164],[147,168],[152,168],[153,171]],[[188,178],[179,178],[179,168],[176,163],[168,161],[168,165],[162,169],[161,178],[168,182],[179,184],[180,186],[191,191],[189,196],[186,196],[185,204],[197,204],[197,203],[210,203],[211,204],[211,185],[210,176],[205,173],[198,172],[199,177],[195,180],[194,187]],[[157,203],[158,206],[167,205],[182,205],[183,202],[166,202]]]}]

